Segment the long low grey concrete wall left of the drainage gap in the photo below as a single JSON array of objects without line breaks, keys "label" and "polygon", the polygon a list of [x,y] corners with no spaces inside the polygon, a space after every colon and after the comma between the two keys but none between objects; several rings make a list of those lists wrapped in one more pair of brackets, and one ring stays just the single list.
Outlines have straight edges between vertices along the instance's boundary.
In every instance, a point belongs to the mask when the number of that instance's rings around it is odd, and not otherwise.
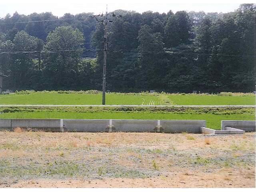
[{"label": "long low grey concrete wall left of the drainage gap", "polygon": [[16,127],[68,132],[165,132],[200,133],[204,120],[86,120],[86,119],[11,119],[0,120],[0,128]]}]

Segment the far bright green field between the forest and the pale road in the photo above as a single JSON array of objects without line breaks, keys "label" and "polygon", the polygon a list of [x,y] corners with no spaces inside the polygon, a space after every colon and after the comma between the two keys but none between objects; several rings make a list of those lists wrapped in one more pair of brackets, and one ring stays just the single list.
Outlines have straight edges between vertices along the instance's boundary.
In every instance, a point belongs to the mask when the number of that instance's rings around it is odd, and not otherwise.
[{"label": "far bright green field between the forest and the pale road", "polygon": [[[32,93],[0,95],[0,104],[99,105],[102,94]],[[106,94],[107,105],[254,105],[255,96],[194,94]]]}]

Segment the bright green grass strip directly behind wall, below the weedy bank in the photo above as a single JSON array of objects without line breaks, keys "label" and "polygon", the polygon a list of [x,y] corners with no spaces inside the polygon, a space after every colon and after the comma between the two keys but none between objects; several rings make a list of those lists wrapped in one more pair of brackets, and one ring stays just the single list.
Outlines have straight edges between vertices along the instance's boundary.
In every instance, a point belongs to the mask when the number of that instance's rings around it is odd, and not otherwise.
[{"label": "bright green grass strip directly behind wall, below the weedy bank", "polygon": [[163,120],[206,120],[208,128],[220,129],[221,120],[255,120],[255,114],[177,114],[162,112],[11,112],[2,113],[0,118],[56,118],[56,119],[163,119]]}]

